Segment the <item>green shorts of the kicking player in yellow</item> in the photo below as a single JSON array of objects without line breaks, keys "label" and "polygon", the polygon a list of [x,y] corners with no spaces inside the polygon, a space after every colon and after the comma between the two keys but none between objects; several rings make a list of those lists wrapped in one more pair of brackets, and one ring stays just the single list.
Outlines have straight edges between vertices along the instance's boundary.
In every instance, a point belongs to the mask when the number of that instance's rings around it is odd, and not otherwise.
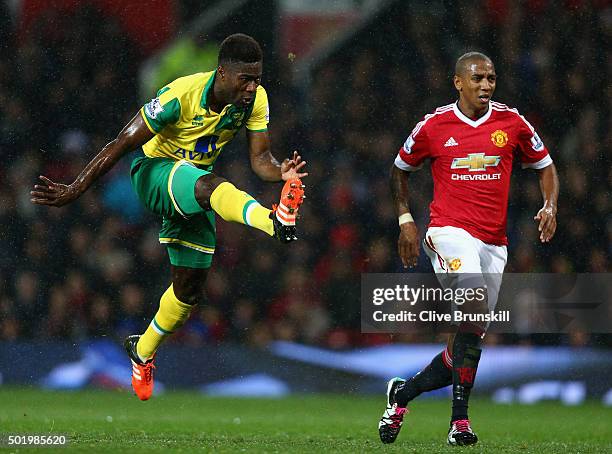
[{"label": "green shorts of the kicking player in yellow", "polygon": [[170,263],[209,268],[215,253],[215,212],[205,211],[195,198],[195,184],[202,170],[188,161],[148,158],[132,161],[132,186],[138,198],[162,217],[159,242],[166,244]]}]

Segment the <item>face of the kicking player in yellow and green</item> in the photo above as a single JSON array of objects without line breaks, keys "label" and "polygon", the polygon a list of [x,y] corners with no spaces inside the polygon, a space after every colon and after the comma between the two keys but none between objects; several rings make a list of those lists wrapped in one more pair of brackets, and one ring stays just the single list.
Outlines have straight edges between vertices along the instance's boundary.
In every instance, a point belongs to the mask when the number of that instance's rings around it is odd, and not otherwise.
[{"label": "face of the kicking player in yellow and green", "polygon": [[223,69],[223,82],[228,103],[247,107],[255,99],[255,91],[261,82],[262,64],[234,63]]}]

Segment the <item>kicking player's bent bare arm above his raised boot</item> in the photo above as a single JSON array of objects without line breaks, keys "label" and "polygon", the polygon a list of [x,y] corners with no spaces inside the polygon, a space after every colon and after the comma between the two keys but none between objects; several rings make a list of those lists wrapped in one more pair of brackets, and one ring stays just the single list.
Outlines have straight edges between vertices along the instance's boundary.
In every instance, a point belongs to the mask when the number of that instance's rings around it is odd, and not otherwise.
[{"label": "kicking player's bent bare arm above his raised boot", "polygon": [[247,133],[249,143],[249,157],[253,172],[264,181],[291,180],[292,178],[304,178],[308,176],[303,172],[306,161],[297,151],[293,152],[291,159],[285,159],[282,163],[276,160],[270,152],[270,136],[267,131]]}]

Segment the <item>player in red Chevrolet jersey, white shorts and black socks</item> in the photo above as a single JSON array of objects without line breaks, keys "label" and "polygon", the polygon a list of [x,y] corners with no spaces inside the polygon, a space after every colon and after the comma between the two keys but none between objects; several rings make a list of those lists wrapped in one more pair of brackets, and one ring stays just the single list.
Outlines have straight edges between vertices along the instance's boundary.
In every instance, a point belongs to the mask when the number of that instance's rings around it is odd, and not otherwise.
[{"label": "player in red Chevrolet jersey, white shorts and black socks", "polygon": [[[404,266],[414,266],[419,256],[419,232],[408,203],[409,174],[429,159],[434,196],[423,241],[425,252],[442,286],[464,273],[480,276],[474,287],[486,287],[488,308],[484,310],[495,308],[506,265],[514,158],[523,168],[538,173],[544,204],[534,219],[543,243],[555,234],[559,194],[557,171],[548,150],[516,109],[491,100],[495,84],[495,67],[489,57],[478,52],[462,55],[454,76],[459,101],[436,109],[416,125],[391,172],[400,224],[398,249]],[[485,324],[459,324],[446,349],[427,367],[408,380],[389,381],[387,407],[379,422],[383,443],[395,441],[408,402],[448,385],[453,386],[448,442],[469,445],[478,441],[468,419],[468,401],[486,328]]]}]

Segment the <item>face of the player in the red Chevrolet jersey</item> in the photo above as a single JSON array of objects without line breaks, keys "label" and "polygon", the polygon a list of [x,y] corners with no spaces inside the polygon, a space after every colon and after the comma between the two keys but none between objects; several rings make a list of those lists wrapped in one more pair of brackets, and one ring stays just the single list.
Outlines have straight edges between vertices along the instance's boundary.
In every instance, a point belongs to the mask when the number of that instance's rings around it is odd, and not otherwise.
[{"label": "face of the player in the red Chevrolet jersey", "polygon": [[455,76],[459,97],[474,111],[484,110],[495,91],[497,75],[493,63],[488,60],[468,62],[465,71]]}]

